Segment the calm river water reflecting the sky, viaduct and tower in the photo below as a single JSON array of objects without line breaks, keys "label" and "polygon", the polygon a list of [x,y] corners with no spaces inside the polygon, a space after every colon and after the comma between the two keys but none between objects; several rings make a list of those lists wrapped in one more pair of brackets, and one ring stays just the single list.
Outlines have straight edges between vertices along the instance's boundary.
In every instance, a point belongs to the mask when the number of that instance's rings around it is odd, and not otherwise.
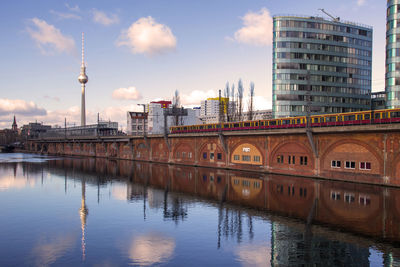
[{"label": "calm river water reflecting the sky, viaduct and tower", "polygon": [[0,154],[0,266],[396,266],[400,191]]}]

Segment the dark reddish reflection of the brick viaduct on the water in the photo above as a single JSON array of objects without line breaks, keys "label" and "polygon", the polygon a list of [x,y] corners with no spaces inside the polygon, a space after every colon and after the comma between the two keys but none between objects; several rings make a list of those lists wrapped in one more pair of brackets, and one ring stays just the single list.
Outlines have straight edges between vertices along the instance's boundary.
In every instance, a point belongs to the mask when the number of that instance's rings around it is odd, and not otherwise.
[{"label": "dark reddish reflection of the brick viaduct on the water", "polygon": [[70,170],[74,177],[85,177],[86,181],[93,177],[94,184],[98,179],[106,182],[110,177],[126,181],[127,199],[137,194],[137,190],[129,188],[142,184],[301,220],[308,220],[314,210],[315,222],[366,236],[396,241],[400,238],[398,188],[102,158],[70,158],[48,164],[51,172],[60,170],[60,176]]}]

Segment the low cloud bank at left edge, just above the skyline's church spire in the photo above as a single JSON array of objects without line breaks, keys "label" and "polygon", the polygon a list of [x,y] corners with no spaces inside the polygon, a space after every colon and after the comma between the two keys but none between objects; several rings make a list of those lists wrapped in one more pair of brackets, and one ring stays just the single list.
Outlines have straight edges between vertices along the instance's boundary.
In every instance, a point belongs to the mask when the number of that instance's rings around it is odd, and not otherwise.
[{"label": "low cloud bank at left edge, just above the skyline's church spire", "polygon": [[46,110],[38,107],[33,101],[0,98],[0,116],[10,114],[46,115]]}]

